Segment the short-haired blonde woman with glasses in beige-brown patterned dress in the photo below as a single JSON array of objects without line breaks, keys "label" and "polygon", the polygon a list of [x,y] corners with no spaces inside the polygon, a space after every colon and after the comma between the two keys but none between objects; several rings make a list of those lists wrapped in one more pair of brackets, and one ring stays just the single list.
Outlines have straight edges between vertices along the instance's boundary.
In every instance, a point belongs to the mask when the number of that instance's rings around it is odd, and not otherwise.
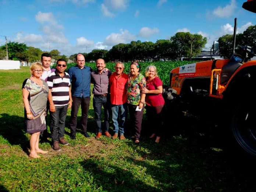
[{"label": "short-haired blonde woman with glasses in beige-brown patterned dress", "polygon": [[45,154],[47,151],[39,149],[40,132],[46,129],[46,102],[49,92],[48,85],[42,81],[43,67],[40,63],[33,63],[30,67],[31,77],[26,79],[22,85],[22,96],[25,106],[26,132],[30,136],[29,157],[39,158],[37,153]]}]

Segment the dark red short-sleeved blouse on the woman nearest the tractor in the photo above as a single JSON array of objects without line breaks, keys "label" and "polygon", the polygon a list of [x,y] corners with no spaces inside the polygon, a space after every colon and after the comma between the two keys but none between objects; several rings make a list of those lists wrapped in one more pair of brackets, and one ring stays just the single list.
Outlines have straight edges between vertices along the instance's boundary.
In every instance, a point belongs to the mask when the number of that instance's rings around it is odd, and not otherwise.
[{"label": "dark red short-sleeved blouse on the woman nearest the tractor", "polygon": [[[159,77],[155,77],[152,81],[146,81],[146,83],[148,90],[156,90],[157,87],[163,86],[163,82]],[[162,96],[162,93],[159,93],[158,95],[147,93],[145,101],[148,106],[156,107],[164,104],[164,97]]]}]

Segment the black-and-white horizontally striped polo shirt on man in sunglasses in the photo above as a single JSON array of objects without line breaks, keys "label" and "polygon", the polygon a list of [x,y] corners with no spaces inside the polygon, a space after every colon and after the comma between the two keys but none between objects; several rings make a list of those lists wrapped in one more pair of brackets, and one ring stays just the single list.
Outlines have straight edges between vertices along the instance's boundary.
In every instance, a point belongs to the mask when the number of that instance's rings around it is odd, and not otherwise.
[{"label": "black-and-white horizontally striped polo shirt on man in sunglasses", "polygon": [[57,71],[52,72],[47,78],[47,84],[51,89],[51,95],[55,106],[67,105],[70,99],[70,76],[64,72],[64,77],[61,78]]}]

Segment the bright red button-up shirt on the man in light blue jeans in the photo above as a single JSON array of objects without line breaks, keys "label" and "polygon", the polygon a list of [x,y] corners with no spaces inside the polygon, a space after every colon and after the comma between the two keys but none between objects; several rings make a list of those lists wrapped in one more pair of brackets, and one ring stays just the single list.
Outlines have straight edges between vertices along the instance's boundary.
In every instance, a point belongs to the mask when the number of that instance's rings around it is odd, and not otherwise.
[{"label": "bright red button-up shirt on the man in light blue jeans", "polygon": [[110,102],[113,105],[121,105],[127,101],[127,89],[126,83],[128,81],[128,75],[122,73],[118,78],[114,72],[109,78],[110,86]]}]

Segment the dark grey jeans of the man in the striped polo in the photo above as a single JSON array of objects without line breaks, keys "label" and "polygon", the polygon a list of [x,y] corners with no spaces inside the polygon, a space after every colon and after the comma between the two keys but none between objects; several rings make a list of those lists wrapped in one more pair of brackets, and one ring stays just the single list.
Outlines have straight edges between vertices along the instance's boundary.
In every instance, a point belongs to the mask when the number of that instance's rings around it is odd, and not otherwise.
[{"label": "dark grey jeans of the man in the striped polo", "polygon": [[50,111],[51,117],[51,141],[58,141],[58,138],[63,138],[65,133],[65,120],[67,117],[68,105],[55,106],[56,111]]}]

